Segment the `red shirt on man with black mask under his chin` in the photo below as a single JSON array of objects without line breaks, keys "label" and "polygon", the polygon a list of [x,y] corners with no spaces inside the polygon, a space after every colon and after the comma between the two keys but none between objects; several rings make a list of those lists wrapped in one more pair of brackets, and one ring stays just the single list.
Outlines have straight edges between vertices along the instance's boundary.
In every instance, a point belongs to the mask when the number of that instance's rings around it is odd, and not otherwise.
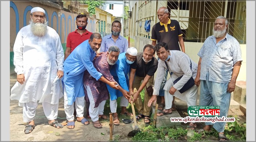
[{"label": "red shirt on man with black mask under his chin", "polygon": [[82,35],[77,32],[77,29],[74,32],[71,32],[68,34],[67,38],[67,45],[66,47],[71,47],[71,52],[82,42],[84,42],[87,39],[90,39],[90,36],[92,35],[92,32],[89,32],[86,30]]}]

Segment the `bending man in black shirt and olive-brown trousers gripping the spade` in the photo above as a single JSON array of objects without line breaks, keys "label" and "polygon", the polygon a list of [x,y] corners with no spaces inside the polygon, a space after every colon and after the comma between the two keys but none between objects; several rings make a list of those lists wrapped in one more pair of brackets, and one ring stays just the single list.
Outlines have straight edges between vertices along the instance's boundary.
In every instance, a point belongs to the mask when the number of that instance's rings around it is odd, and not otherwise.
[{"label": "bending man in black shirt and olive-brown trousers gripping the spade", "polygon": [[[147,44],[143,48],[143,52],[138,53],[136,64],[131,65],[131,71],[129,76],[129,95],[133,95],[133,99],[130,98],[129,102],[135,102],[136,109],[139,112],[139,115],[136,116],[136,119],[144,118],[144,123],[150,123],[150,110],[151,107],[148,107],[148,100],[150,96],[146,90],[146,87],[149,87],[153,84],[154,77],[153,75],[157,71],[158,61],[154,57],[155,49],[151,44]],[[140,92],[144,88],[144,103],[140,97]],[[137,100],[138,98],[138,100]]]}]

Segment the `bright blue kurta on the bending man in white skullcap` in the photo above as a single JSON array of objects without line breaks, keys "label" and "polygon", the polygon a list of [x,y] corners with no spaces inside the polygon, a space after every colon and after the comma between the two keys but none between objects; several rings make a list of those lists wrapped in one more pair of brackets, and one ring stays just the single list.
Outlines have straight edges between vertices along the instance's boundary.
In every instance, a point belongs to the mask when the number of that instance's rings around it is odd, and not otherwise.
[{"label": "bright blue kurta on the bending man in white skullcap", "polygon": [[[114,80],[126,91],[129,91],[129,78],[128,78],[128,73],[130,71],[130,65],[126,62],[126,57],[125,53],[121,53],[118,56],[118,60],[116,64],[113,65],[113,67],[110,70],[110,73],[113,75]],[[109,93],[110,93],[110,98],[111,100],[115,100],[120,96],[123,96],[122,92],[119,90],[115,90],[111,88],[107,84]]]}]

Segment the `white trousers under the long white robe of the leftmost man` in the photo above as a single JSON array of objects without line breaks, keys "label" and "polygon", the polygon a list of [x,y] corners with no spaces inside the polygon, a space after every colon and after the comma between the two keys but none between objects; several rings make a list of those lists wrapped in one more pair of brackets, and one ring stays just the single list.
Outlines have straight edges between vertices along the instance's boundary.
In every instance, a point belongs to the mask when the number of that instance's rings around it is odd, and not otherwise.
[{"label": "white trousers under the long white robe of the leftmost man", "polygon": [[[22,103],[23,106],[23,122],[33,121],[35,118],[35,110],[37,102]],[[45,116],[48,120],[57,119],[59,104],[42,103]]]}]

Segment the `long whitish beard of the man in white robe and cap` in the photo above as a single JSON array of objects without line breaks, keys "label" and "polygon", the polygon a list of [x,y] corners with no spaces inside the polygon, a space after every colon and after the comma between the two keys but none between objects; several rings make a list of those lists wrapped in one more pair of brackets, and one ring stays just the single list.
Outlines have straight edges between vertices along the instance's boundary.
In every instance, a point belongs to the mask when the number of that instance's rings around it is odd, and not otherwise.
[{"label": "long whitish beard of the man in white robe and cap", "polygon": [[42,37],[46,34],[48,22],[34,23],[32,20],[30,20],[29,23],[31,25],[31,31],[35,36]]}]

